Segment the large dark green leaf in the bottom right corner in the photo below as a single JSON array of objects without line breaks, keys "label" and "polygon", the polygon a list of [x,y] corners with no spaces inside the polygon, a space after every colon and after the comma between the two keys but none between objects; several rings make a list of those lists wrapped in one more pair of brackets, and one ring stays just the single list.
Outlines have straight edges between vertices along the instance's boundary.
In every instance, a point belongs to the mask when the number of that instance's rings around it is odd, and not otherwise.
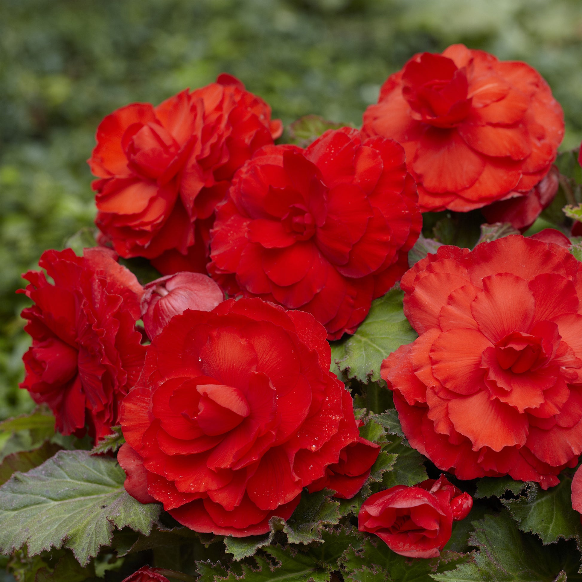
[{"label": "large dark green leaf in the bottom right corner", "polygon": [[579,558],[572,541],[544,546],[537,536],[522,534],[506,511],[488,514],[483,520],[473,521],[473,526],[475,531],[469,545],[480,548],[474,562],[459,565],[449,572],[431,574],[434,580],[549,582],[555,580],[561,570],[565,570],[567,576],[576,576]]}]

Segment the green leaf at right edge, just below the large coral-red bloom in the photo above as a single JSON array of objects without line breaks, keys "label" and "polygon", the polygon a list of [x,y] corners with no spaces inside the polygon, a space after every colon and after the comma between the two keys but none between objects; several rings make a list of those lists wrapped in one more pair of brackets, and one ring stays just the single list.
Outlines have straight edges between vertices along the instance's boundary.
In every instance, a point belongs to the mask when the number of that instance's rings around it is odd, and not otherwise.
[{"label": "green leaf at right edge, just below the large coral-red bloom", "polygon": [[580,543],[580,513],[572,509],[572,474],[560,474],[560,482],[544,491],[533,484],[528,495],[517,499],[502,499],[521,531],[538,534],[544,544],[558,538],[575,538]]}]

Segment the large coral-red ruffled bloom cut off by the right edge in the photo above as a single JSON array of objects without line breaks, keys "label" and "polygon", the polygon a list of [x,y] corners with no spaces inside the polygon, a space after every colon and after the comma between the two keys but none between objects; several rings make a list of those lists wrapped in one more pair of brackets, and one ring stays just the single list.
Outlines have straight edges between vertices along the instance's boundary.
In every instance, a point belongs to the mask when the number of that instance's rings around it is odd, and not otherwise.
[{"label": "large coral-red ruffled bloom cut off by the right edge", "polygon": [[381,375],[404,434],[440,469],[545,489],[576,466],[582,263],[565,244],[550,230],[473,251],[443,246],[403,276],[404,313],[420,336]]}]

